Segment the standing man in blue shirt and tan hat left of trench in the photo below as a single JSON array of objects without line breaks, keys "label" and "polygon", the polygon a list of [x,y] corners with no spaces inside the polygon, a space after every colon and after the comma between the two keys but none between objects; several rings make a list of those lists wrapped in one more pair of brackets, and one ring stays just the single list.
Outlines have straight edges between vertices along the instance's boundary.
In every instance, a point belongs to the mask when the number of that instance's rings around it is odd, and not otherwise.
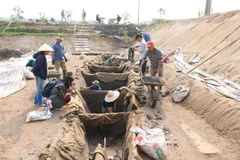
[{"label": "standing man in blue shirt and tan hat left of trench", "polygon": [[[67,75],[67,67],[65,61],[67,59],[65,58],[65,55],[63,53],[64,46],[62,44],[63,36],[58,35],[56,37],[56,42],[53,44],[52,48],[54,52],[52,53],[52,64],[55,65],[55,68],[57,71],[59,71],[59,68],[62,68],[63,72],[63,79],[66,78]],[[58,77],[60,79],[60,77]]]}]

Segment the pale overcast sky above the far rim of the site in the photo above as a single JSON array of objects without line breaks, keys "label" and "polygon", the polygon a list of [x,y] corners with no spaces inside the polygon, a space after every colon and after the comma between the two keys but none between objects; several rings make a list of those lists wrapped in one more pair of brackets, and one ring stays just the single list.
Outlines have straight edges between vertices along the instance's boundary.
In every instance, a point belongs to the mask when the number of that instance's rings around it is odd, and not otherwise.
[{"label": "pale overcast sky above the far rim of the site", "polygon": [[[72,19],[81,20],[82,10],[87,13],[86,20],[95,20],[96,14],[116,18],[124,12],[130,14],[130,22],[137,23],[138,1],[140,1],[140,22],[159,18],[157,10],[163,8],[164,19],[197,18],[198,11],[204,12],[206,0],[7,0],[0,6],[0,17],[10,17],[13,8],[19,5],[25,18],[39,18],[39,12],[48,18],[60,19],[62,9],[72,10]],[[213,13],[240,10],[240,0],[212,0]]]}]

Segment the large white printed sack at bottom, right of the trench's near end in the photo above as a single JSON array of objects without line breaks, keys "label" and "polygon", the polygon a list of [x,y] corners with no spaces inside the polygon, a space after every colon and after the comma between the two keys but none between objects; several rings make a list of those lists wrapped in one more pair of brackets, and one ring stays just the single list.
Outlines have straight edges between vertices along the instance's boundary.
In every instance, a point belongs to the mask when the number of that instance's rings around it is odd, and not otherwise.
[{"label": "large white printed sack at bottom, right of the trench's near end", "polygon": [[130,130],[137,134],[135,142],[143,152],[156,160],[166,159],[167,146],[162,129],[153,128],[144,131],[139,127],[132,127]]}]

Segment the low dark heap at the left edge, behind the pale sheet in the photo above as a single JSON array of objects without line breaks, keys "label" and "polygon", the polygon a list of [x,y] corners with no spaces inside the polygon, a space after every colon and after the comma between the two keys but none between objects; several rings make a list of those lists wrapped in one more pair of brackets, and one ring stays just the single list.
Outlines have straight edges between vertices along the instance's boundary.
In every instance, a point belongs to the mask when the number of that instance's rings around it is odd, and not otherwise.
[{"label": "low dark heap at the left edge, behind the pale sheet", "polygon": [[23,55],[22,52],[12,49],[0,49],[0,61],[9,59],[11,57],[20,58]]}]

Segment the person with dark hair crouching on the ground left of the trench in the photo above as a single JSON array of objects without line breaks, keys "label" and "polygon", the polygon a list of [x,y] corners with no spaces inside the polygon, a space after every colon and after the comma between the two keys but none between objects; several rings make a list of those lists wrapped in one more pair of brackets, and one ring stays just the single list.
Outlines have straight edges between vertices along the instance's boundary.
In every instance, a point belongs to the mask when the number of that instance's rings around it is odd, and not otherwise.
[{"label": "person with dark hair crouching on the ground left of the trench", "polygon": [[55,84],[53,84],[49,96],[46,96],[48,100],[52,101],[52,109],[61,109],[70,102],[70,87],[72,86],[73,80],[71,76],[67,76],[63,82],[53,82]]}]

